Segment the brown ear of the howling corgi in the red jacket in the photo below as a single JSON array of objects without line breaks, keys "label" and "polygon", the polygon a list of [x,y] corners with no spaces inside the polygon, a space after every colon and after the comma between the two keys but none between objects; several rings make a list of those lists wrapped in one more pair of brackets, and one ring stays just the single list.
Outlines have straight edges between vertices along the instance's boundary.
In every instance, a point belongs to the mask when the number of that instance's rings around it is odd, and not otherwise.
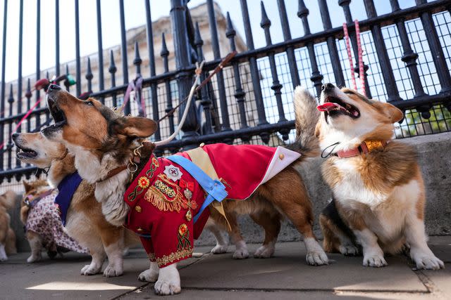
[{"label": "brown ear of the howling corgi in the red jacket", "polygon": [[156,128],[157,124],[154,120],[143,117],[124,117],[114,126],[116,133],[135,138],[152,136]]}]

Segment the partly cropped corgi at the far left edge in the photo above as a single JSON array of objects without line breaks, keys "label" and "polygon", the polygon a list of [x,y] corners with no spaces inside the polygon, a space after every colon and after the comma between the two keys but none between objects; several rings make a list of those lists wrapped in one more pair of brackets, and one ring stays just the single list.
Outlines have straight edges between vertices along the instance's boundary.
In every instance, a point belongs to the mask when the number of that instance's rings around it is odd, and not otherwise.
[{"label": "partly cropped corgi at the far left edge", "polygon": [[11,229],[11,217],[8,209],[13,209],[16,204],[16,193],[8,190],[0,195],[0,261],[7,261],[8,255],[16,254],[16,234]]}]

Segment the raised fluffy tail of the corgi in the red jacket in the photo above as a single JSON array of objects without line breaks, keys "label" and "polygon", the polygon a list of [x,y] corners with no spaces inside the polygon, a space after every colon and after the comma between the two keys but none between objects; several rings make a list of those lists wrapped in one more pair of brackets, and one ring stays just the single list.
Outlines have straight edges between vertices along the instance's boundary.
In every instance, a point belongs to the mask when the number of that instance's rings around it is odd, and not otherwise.
[{"label": "raised fluffy tail of the corgi in the red jacket", "polygon": [[316,99],[302,86],[295,89],[296,140],[290,150],[302,154],[301,158],[319,155],[319,143],[315,136],[315,126],[319,119]]}]

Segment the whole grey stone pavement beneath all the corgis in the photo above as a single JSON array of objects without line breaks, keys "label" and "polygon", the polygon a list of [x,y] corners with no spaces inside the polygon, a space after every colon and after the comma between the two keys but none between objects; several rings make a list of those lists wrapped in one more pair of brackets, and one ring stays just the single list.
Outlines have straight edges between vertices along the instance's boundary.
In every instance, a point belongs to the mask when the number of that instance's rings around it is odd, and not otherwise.
[{"label": "whole grey stone pavement beneath all the corgis", "polygon": [[[329,266],[307,266],[302,242],[279,242],[271,259],[232,258],[197,247],[198,257],[179,263],[182,293],[156,296],[137,275],[148,268],[142,249],[125,257],[124,275],[82,276],[89,256],[26,263],[27,253],[0,263],[0,299],[451,299],[451,236],[431,237],[445,270],[416,270],[405,256],[387,257],[385,268],[362,266],[362,257],[329,254]],[[254,252],[258,244],[249,244]],[[47,257],[46,254],[43,254]]]}]

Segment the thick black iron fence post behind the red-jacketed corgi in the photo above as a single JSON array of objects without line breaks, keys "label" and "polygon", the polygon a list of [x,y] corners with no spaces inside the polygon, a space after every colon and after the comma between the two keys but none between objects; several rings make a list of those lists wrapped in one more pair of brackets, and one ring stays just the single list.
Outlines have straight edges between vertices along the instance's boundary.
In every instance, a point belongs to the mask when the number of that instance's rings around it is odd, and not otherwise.
[{"label": "thick black iron fence post behind the red-jacketed corgi", "polygon": [[[171,24],[173,30],[173,44],[175,52],[175,65],[177,68],[177,79],[178,84],[178,99],[183,101],[186,96],[190,93],[190,88],[192,86],[192,72],[188,71],[187,68],[191,65],[190,56],[190,45],[188,44],[188,34],[186,27],[186,0],[171,0]],[[183,115],[185,110],[185,103],[180,105],[179,114],[180,117]],[[197,113],[195,110],[194,102],[190,105],[190,110],[188,111],[187,119],[182,127],[183,139],[187,140],[190,137],[198,136],[199,133],[199,120],[197,119]],[[187,149],[193,148],[194,145],[188,145],[185,147]]]}]

